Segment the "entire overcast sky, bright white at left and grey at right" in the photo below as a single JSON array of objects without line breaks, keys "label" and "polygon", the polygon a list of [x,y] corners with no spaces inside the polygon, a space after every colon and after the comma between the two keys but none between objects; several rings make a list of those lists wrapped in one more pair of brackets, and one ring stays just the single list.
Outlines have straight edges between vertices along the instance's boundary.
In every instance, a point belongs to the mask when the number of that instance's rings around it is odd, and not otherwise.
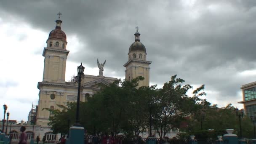
[{"label": "entire overcast sky, bright white at left and grey at right", "polygon": [[[0,104],[25,120],[39,99],[43,48],[58,12],[67,35],[66,81],[85,74],[125,78],[135,27],[147,49],[150,85],[172,75],[194,89],[205,84],[211,104],[242,108],[241,85],[256,81],[255,0],[0,0]],[[0,108],[3,117],[3,108]]]}]

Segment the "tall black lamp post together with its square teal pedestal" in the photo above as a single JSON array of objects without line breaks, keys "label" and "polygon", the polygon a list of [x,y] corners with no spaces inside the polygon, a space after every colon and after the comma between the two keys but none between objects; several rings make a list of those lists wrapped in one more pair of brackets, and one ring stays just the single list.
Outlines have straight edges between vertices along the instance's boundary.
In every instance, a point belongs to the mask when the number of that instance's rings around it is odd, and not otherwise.
[{"label": "tall black lamp post together with its square teal pedestal", "polygon": [[83,67],[82,63],[79,67],[77,67],[78,92],[77,92],[76,118],[75,118],[75,124],[69,128],[69,139],[67,139],[66,144],[84,144],[85,129],[79,123],[81,76],[83,74],[84,69],[85,67]]}]

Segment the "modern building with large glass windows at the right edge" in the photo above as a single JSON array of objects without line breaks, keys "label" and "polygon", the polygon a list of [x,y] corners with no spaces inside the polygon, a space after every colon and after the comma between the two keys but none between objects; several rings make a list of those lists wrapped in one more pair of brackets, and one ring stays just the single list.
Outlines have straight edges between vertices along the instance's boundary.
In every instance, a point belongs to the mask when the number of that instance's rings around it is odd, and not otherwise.
[{"label": "modern building with large glass windows at the right edge", "polygon": [[256,116],[256,82],[242,85],[243,101],[238,103],[243,104],[245,114],[250,116]]}]

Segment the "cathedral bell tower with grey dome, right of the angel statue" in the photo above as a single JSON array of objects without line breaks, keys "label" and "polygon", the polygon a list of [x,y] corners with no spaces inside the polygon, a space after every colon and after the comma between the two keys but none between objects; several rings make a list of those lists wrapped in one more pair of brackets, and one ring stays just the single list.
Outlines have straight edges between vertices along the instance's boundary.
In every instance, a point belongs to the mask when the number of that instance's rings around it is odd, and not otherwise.
[{"label": "cathedral bell tower with grey dome, right of the angel statue", "polygon": [[149,86],[149,64],[152,61],[147,61],[147,52],[145,46],[140,42],[139,27],[136,27],[135,42],[131,44],[128,53],[128,61],[123,65],[126,67],[125,80],[132,80],[138,76],[145,79],[139,83],[139,86]]}]

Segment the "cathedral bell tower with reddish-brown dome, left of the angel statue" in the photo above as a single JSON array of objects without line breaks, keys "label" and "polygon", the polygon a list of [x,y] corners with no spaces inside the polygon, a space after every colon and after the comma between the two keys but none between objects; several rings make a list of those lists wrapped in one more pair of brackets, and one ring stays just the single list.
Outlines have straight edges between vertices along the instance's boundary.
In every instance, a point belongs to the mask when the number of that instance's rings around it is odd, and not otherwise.
[{"label": "cathedral bell tower with reddish-brown dome, left of the angel statue", "polygon": [[43,50],[45,57],[43,82],[65,83],[66,61],[69,51],[66,49],[66,34],[61,30],[61,13],[58,15],[56,27],[50,32],[46,41],[47,47]]}]

